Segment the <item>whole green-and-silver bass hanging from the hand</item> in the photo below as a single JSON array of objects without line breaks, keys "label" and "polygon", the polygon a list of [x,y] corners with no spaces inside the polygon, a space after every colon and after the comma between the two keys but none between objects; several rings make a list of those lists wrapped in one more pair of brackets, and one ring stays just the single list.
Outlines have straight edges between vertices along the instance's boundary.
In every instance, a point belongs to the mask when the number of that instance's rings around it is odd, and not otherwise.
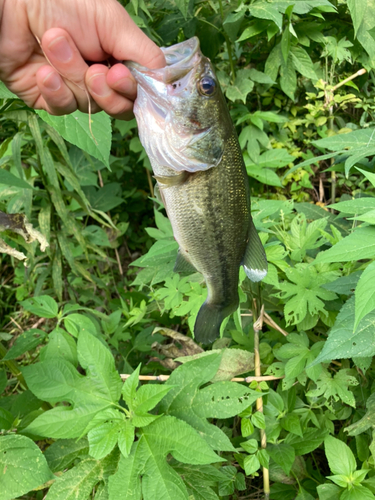
[{"label": "whole green-and-silver bass hanging from the hand", "polygon": [[249,179],[236,130],[211,61],[199,39],[162,47],[166,66],[126,62],[137,82],[134,114],[179,244],[174,271],[200,272],[207,299],[194,338],[210,344],[239,306],[239,269],[267,274],[250,212]]}]

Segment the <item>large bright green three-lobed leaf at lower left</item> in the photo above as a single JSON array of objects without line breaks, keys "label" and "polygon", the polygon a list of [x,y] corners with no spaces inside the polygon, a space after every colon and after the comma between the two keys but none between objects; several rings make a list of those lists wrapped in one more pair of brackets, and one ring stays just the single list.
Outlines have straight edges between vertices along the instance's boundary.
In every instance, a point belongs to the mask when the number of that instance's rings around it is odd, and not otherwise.
[{"label": "large bright green three-lobed leaf at lower left", "polygon": [[81,332],[78,359],[86,376],[61,358],[24,368],[30,390],[40,399],[72,404],[46,411],[28,426],[28,432],[54,438],[80,437],[95,415],[118,403],[121,379],[110,351],[93,335]]}]

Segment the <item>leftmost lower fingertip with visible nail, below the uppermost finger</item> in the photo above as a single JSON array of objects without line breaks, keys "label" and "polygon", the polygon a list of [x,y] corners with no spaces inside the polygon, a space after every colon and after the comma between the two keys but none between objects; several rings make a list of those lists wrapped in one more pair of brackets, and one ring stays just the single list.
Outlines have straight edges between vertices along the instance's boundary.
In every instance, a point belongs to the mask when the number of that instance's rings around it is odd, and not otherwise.
[{"label": "leftmost lower fingertip with visible nail, below the uppermost finger", "polygon": [[36,82],[44,103],[42,106],[52,115],[73,113],[77,109],[77,101],[70,88],[65,85],[58,72],[51,66],[42,66],[36,73]]}]

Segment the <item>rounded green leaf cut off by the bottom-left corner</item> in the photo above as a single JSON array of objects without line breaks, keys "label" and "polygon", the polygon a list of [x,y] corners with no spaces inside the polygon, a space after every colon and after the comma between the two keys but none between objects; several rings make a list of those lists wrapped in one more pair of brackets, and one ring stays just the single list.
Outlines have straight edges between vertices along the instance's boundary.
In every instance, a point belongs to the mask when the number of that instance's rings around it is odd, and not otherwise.
[{"label": "rounded green leaf cut off by the bottom-left corner", "polygon": [[12,500],[55,478],[38,446],[16,434],[0,436],[0,469],[2,500]]}]

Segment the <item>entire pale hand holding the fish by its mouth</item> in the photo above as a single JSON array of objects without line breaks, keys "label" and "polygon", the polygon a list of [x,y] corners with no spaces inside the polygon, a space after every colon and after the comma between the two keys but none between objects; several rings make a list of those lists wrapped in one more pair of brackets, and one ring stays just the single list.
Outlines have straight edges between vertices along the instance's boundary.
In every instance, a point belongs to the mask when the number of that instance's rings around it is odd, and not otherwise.
[{"label": "entire pale hand holding the fish by its mouth", "polygon": [[135,80],[110,58],[165,65],[117,0],[0,0],[0,80],[28,106],[88,112],[89,94],[92,112],[131,118]]}]

